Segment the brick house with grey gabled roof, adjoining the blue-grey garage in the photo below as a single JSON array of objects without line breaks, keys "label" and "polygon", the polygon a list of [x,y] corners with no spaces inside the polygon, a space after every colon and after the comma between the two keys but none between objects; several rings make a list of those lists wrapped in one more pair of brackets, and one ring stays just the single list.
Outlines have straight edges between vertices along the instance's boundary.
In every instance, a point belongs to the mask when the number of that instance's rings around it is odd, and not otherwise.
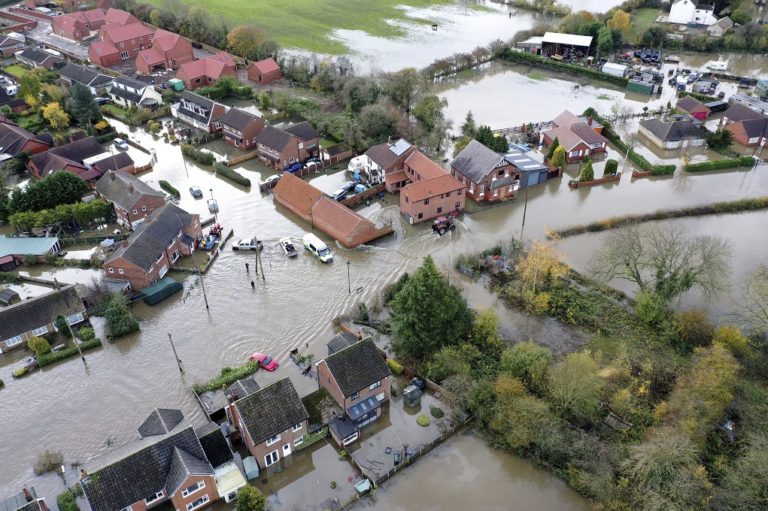
[{"label": "brick house with grey gabled roof, adjoining the blue-grey garage", "polygon": [[451,162],[451,174],[467,186],[467,195],[476,202],[514,199],[520,189],[517,167],[477,140]]}]

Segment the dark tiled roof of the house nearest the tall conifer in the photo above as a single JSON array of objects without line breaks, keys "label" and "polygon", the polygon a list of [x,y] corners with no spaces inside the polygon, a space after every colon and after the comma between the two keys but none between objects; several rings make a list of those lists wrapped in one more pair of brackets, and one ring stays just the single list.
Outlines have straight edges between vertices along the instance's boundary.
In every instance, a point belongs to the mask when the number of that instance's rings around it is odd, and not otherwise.
[{"label": "dark tiled roof of the house nearest the tall conifer", "polygon": [[344,397],[365,389],[390,375],[384,358],[372,340],[344,348],[325,359]]}]

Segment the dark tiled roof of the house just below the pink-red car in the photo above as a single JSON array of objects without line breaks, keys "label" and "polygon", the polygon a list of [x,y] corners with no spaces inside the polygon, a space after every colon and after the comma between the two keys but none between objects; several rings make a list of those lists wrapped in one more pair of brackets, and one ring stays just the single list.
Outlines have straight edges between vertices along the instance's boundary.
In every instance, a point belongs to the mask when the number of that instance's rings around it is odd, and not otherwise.
[{"label": "dark tiled roof of the house just below the pink-red car", "polygon": [[256,445],[309,418],[290,378],[235,401],[235,407]]}]

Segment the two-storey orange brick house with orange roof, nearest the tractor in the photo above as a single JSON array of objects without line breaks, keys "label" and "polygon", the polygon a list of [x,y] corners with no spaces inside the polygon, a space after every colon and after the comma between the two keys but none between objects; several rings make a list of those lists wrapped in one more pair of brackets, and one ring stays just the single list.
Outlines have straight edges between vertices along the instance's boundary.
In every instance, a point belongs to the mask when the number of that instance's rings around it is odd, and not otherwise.
[{"label": "two-storey orange brick house with orange roof, nearest the tractor", "polygon": [[400,213],[410,224],[464,209],[464,183],[420,151],[405,160],[405,173],[410,183],[400,193]]}]

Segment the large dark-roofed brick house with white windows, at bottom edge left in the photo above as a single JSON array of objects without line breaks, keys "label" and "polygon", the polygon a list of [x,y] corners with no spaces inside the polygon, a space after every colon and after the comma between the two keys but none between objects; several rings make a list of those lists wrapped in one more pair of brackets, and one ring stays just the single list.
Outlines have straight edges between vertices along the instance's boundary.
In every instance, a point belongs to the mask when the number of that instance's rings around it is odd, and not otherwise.
[{"label": "large dark-roofed brick house with white windows, at bottom edge left", "polygon": [[193,511],[219,499],[211,462],[181,411],[155,410],[139,437],[81,470],[92,511],[144,510],[168,501]]}]

